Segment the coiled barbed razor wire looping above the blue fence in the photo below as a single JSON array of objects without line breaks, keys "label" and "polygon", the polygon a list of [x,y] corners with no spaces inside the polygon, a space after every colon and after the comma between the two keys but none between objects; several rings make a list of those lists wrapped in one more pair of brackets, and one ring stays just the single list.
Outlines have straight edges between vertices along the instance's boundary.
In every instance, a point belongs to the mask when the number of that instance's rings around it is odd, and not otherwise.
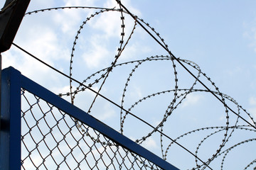
[{"label": "coiled barbed razor wire looping above the blue fence", "polygon": [[[168,48],[168,45],[166,44],[166,42],[164,41],[164,38],[161,38],[161,35],[156,32],[156,29],[151,27],[149,25],[149,23],[146,23],[142,18],[139,18],[138,16],[132,15],[135,19],[134,19],[134,25],[132,26],[132,31],[131,33],[129,33],[128,38],[126,41],[124,41],[124,36],[125,34],[125,22],[124,22],[124,15],[127,14],[129,15],[129,11],[127,10],[123,10],[121,4],[119,3],[119,8],[101,8],[101,7],[90,7],[90,6],[65,6],[65,7],[55,7],[55,8],[44,8],[44,9],[40,9],[40,10],[36,10],[36,11],[31,11],[26,13],[26,15],[31,15],[33,13],[39,13],[39,12],[46,12],[46,11],[53,11],[53,10],[63,10],[63,9],[78,9],[78,8],[82,8],[82,9],[95,9],[95,10],[100,10],[100,11],[95,11],[94,13],[92,13],[90,16],[88,16],[85,21],[82,21],[82,24],[80,24],[80,27],[77,30],[77,33],[75,35],[75,40],[73,41],[73,47],[71,48],[71,55],[70,55],[70,91],[69,92],[65,92],[62,94],[59,94],[59,96],[70,96],[70,102],[73,103],[75,105],[75,96],[79,93],[82,93],[83,91],[86,91],[88,88],[92,88],[93,86],[95,86],[96,84],[100,84],[100,88],[97,90],[97,94],[95,96],[95,98],[93,99],[92,103],[90,104],[90,108],[88,109],[87,113],[91,113],[91,109],[95,104],[95,100],[97,99],[98,94],[100,94],[100,91],[102,89],[102,87],[105,85],[105,81],[107,80],[107,78],[109,77],[109,75],[111,74],[111,72],[113,72],[114,68],[117,67],[122,67],[124,65],[130,64],[133,65],[131,71],[128,74],[127,77],[127,81],[124,84],[124,89],[122,91],[122,96],[121,96],[121,100],[120,100],[120,132],[122,134],[124,134],[124,122],[127,118],[128,115],[130,115],[130,112],[132,111],[132,109],[134,109],[135,107],[137,107],[139,105],[139,103],[142,103],[146,100],[148,100],[149,98],[154,98],[156,96],[161,96],[164,94],[173,94],[173,98],[170,98],[169,105],[166,106],[166,111],[163,115],[163,118],[161,119],[160,123],[158,125],[156,125],[156,127],[151,130],[151,132],[147,133],[146,135],[134,140],[135,142],[137,142],[139,145],[142,145],[143,142],[145,142],[146,140],[149,139],[149,137],[151,137],[154,133],[156,132],[160,132],[160,145],[161,145],[161,154],[163,159],[168,160],[167,159],[167,155],[169,153],[169,150],[171,149],[171,146],[176,143],[178,140],[181,140],[181,138],[183,137],[187,137],[188,135],[193,135],[196,132],[201,132],[201,131],[208,131],[208,130],[215,130],[215,131],[211,131],[210,133],[208,133],[208,135],[206,135],[206,137],[203,137],[203,139],[201,140],[201,142],[198,143],[198,146],[196,147],[196,151],[194,152],[194,157],[195,157],[195,166],[191,167],[191,169],[206,169],[207,167],[209,169],[210,168],[210,163],[213,162],[213,160],[215,160],[217,157],[220,157],[220,155],[224,155],[222,162],[220,163],[220,167],[221,169],[223,169],[223,164],[225,162],[225,158],[226,156],[230,153],[230,151],[232,149],[235,149],[238,146],[244,145],[247,142],[255,142],[255,138],[250,138],[248,140],[244,140],[242,142],[238,142],[235,145],[232,145],[231,147],[229,147],[228,149],[224,149],[226,144],[228,143],[228,141],[232,140],[232,135],[233,132],[237,131],[237,130],[247,130],[250,132],[256,132],[254,129],[255,128],[252,124],[249,123],[249,125],[238,125],[238,122],[240,119],[245,120],[244,117],[242,117],[242,115],[240,114],[241,111],[243,111],[247,117],[250,119],[250,121],[256,125],[255,120],[253,120],[252,115],[250,115],[250,113],[248,113],[244,108],[242,108],[242,106],[240,106],[238,104],[237,101],[235,101],[235,99],[231,98],[230,96],[223,94],[222,92],[220,92],[219,88],[215,85],[215,83],[210,79],[210,77],[208,77],[205,73],[203,73],[201,71],[201,68],[198,66],[198,64],[191,62],[189,60],[184,60],[181,58],[176,58],[174,57],[174,55],[172,55],[171,51]],[[121,32],[120,32],[120,40],[119,40],[119,47],[117,48],[117,54],[114,56],[114,60],[112,61],[112,63],[110,64],[109,67],[105,67],[104,69],[100,69],[99,71],[89,75],[86,79],[84,79],[82,81],[82,83],[79,83],[77,87],[74,88],[73,83],[73,79],[71,79],[73,77],[73,62],[74,62],[74,57],[75,57],[75,47],[78,45],[78,38],[80,37],[83,28],[85,27],[85,25],[91,21],[92,19],[95,18],[95,16],[99,16],[102,13],[106,13],[106,12],[118,12],[120,14],[120,20],[121,20]],[[128,62],[122,62],[122,63],[117,63],[117,61],[119,60],[119,58],[122,55],[122,52],[124,51],[124,49],[127,47],[127,45],[129,44],[129,40],[131,40],[131,38],[134,35],[134,32],[137,28],[137,24],[138,22],[141,22],[140,24],[144,24],[144,26],[146,26],[151,33],[154,33],[154,36],[156,36],[157,40],[159,40],[159,42],[162,43],[162,45],[165,47],[166,50],[169,51],[169,55],[156,55],[156,56],[151,56],[151,57],[146,57],[142,60],[132,60],[132,61],[128,61]],[[156,39],[155,39],[156,40]],[[138,101],[134,102],[128,109],[127,111],[125,111],[124,108],[124,102],[126,101],[126,94],[127,91],[129,91],[128,86],[130,84],[131,79],[133,78],[133,75],[135,72],[137,72],[137,69],[139,67],[142,67],[142,65],[144,63],[148,63],[148,62],[159,62],[159,61],[166,61],[166,62],[171,62],[171,66],[173,69],[173,75],[174,75],[174,89],[169,89],[169,90],[164,90],[164,91],[157,91],[151,94],[148,94],[147,96],[144,96],[143,98],[140,98]],[[186,65],[185,67],[188,68],[189,70],[193,70],[196,71],[196,79],[193,81],[192,85],[187,88],[187,89],[180,89],[178,88],[178,70],[177,70],[177,66],[176,66],[176,62],[178,63],[183,63],[183,65]],[[192,72],[192,71],[191,71]],[[97,78],[98,76],[98,78]],[[93,79],[94,77],[95,80],[90,82],[89,84],[87,83],[87,81]],[[200,81],[200,79],[206,79],[209,84],[211,86],[213,86],[213,89],[215,89],[214,91],[209,90],[209,89],[196,89],[196,85],[198,84],[198,81]],[[201,84],[201,81],[199,82],[199,84]],[[74,90],[73,90],[74,89]],[[212,127],[205,127],[205,128],[198,128],[196,130],[191,130],[189,132],[185,132],[182,135],[176,137],[174,140],[172,140],[171,142],[169,142],[169,145],[164,148],[164,144],[163,144],[163,137],[164,137],[164,125],[166,123],[167,120],[169,120],[169,118],[171,118],[171,115],[174,113],[174,111],[176,111],[176,109],[181,106],[181,103],[183,103],[186,99],[186,97],[189,94],[195,93],[195,92],[201,92],[201,93],[210,93],[210,94],[214,94],[216,96],[218,96],[220,98],[220,100],[223,102],[223,107],[225,109],[225,126],[212,126]],[[238,108],[238,112],[235,114],[236,118],[233,118],[232,120],[235,120],[234,125],[230,125],[230,107],[228,106],[228,103],[226,103],[226,101],[229,101],[233,104],[235,104],[236,108]],[[233,111],[233,110],[231,110]],[[93,114],[93,113],[92,113]],[[85,125],[82,125],[82,123],[79,123],[77,120],[75,121],[75,126],[82,132],[87,132],[87,127],[85,127]],[[248,123],[246,121],[246,123]],[[213,153],[213,155],[211,157],[209,157],[207,159],[207,162],[203,162],[201,161],[201,159],[198,158],[198,152],[201,149],[201,145],[206,142],[206,140],[209,140],[210,137],[213,137],[214,135],[220,133],[220,132],[224,132],[223,134],[223,138],[220,142],[220,145],[218,147],[218,149],[216,150],[216,152]],[[90,137],[92,141],[95,142],[100,142],[100,140],[95,139],[94,137]],[[114,145],[111,142],[103,142],[102,145],[108,145],[108,146],[112,146]],[[198,163],[198,160],[200,160],[201,164]],[[248,169],[250,166],[253,166],[256,161],[256,159],[252,160],[252,162],[250,162],[249,164],[247,164],[247,166],[245,166],[245,169]],[[255,169],[255,168],[254,168]]]}]

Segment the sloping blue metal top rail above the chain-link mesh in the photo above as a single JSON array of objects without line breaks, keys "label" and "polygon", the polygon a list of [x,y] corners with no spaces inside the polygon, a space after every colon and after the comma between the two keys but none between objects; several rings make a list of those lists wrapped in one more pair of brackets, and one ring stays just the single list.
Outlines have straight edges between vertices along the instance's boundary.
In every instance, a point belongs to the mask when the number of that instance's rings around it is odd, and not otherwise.
[{"label": "sloping blue metal top rail above the chain-link mesh", "polygon": [[[12,73],[12,74],[10,74],[10,73]],[[172,164],[169,164],[169,162],[166,162],[164,159],[161,159],[160,157],[156,156],[156,154],[149,152],[149,150],[138,145],[136,142],[133,142],[128,137],[125,137],[124,135],[120,134],[116,130],[110,128],[110,126],[108,126],[105,123],[102,123],[100,120],[97,120],[96,118],[92,117],[92,115],[85,113],[85,111],[82,111],[80,108],[73,106],[68,101],[65,101],[63,98],[60,98],[60,96],[53,94],[53,92],[48,91],[48,89],[37,84],[36,82],[32,81],[31,79],[28,79],[27,77],[23,76],[21,74],[21,72],[18,72],[18,70],[14,69],[13,67],[4,69],[3,74],[9,74],[9,75],[16,74],[16,77],[18,77],[18,79],[20,79],[17,81],[21,82],[20,83],[21,88],[25,89],[26,91],[29,91],[31,94],[34,94],[34,95],[38,96],[39,98],[42,98],[44,101],[47,101],[51,105],[55,106],[56,108],[60,109],[61,111],[65,112],[65,113],[67,113],[68,115],[72,116],[73,118],[79,120],[82,123],[85,123],[85,125],[88,125],[90,128],[97,130],[102,135],[105,135],[106,137],[110,138],[110,140],[117,143],[121,147],[128,149],[129,151],[133,152],[134,154],[144,157],[145,159],[147,159],[150,162],[159,166],[161,169],[170,169],[170,170],[177,169]],[[8,81],[8,80],[6,80],[6,81]]]}]

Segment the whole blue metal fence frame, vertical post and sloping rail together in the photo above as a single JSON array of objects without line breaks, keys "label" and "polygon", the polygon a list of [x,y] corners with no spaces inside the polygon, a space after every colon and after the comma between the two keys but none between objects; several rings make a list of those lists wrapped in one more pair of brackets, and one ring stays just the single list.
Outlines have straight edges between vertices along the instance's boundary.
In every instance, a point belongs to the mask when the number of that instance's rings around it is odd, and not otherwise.
[{"label": "whole blue metal fence frame, vertical post and sloping rail together", "polygon": [[177,169],[164,159],[161,159],[144,147],[129,140],[129,138],[121,135],[116,130],[100,122],[100,120],[93,118],[92,115],[85,113],[80,108],[73,106],[63,98],[48,91],[43,86],[24,77],[21,72],[18,72],[13,67],[3,70],[1,83],[0,169],[21,169],[21,88],[42,98],[61,111],[68,113],[73,118],[97,130],[130,152],[138,154],[156,164],[161,169]]}]

